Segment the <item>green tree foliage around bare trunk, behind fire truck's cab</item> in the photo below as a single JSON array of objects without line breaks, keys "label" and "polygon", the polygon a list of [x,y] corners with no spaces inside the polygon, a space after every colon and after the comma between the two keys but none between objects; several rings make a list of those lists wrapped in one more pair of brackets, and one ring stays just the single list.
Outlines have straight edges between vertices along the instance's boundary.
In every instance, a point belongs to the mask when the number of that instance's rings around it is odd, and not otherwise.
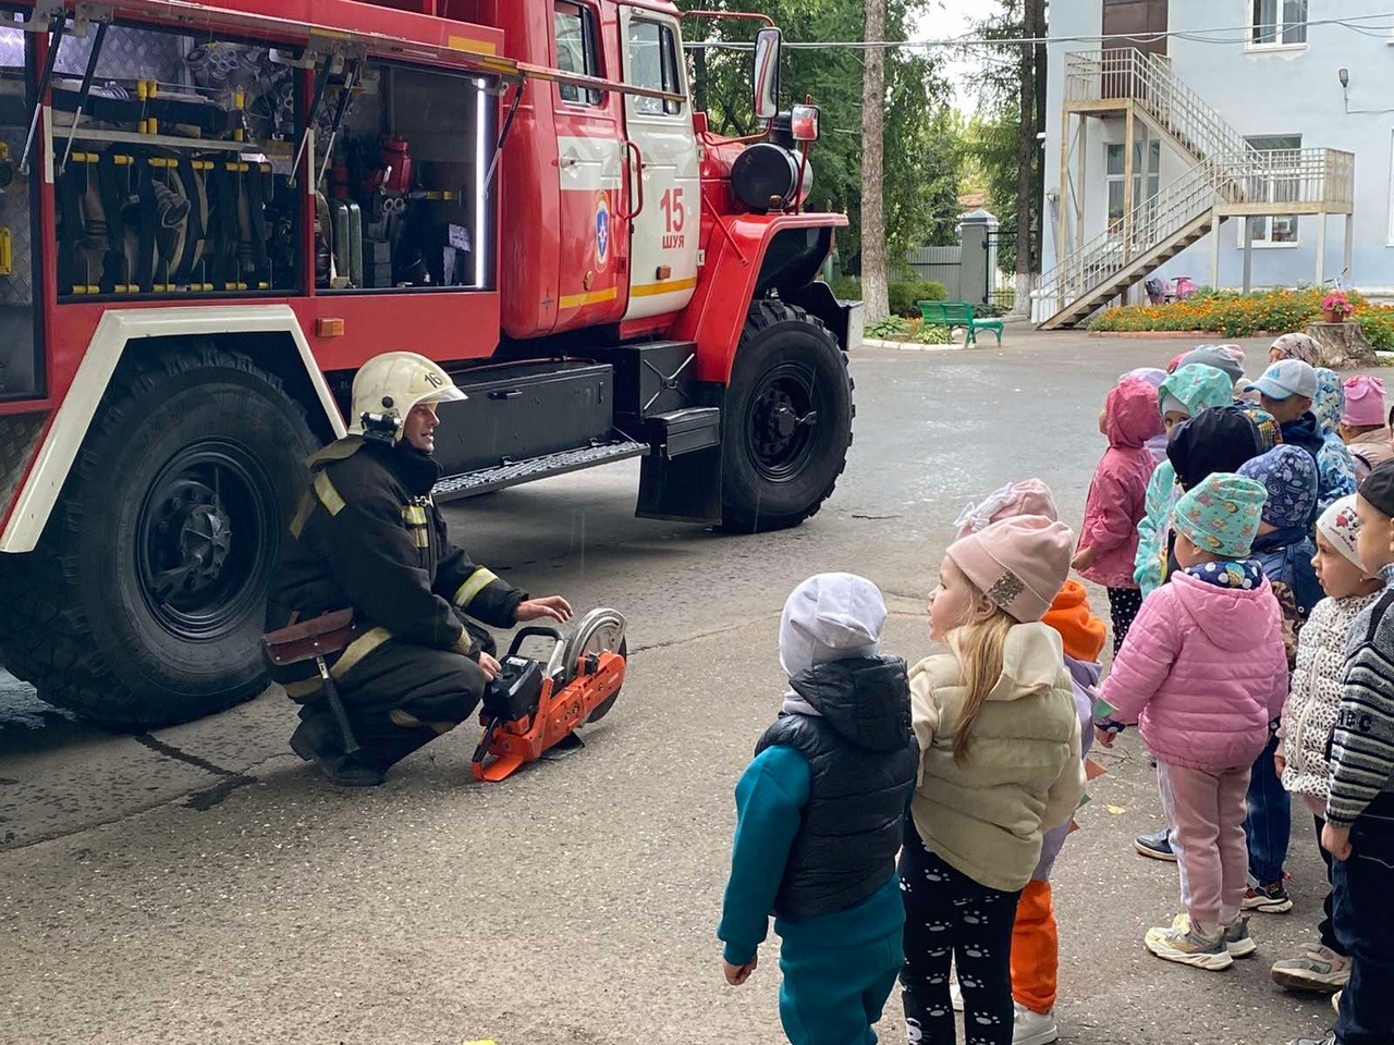
[{"label": "green tree foliage around bare trunk, behind fire truck's cab", "polygon": [[[786,42],[860,40],[863,0],[677,0],[686,10],[732,10],[771,15]],[[888,39],[907,39],[909,26],[931,0],[887,0]],[[750,42],[750,21],[687,20],[691,42]],[[694,93],[719,134],[756,130],[751,116],[750,52],[705,49],[690,53]],[[810,150],[814,188],[810,206],[846,213],[850,229],[838,237],[843,268],[856,270],[861,235],[861,72],[856,49],[783,52],[781,104],[811,96],[822,109],[822,137]],[[934,54],[889,49],[885,63],[884,201],[887,254],[951,242],[958,219],[962,163],[960,127],[951,91]]]}]

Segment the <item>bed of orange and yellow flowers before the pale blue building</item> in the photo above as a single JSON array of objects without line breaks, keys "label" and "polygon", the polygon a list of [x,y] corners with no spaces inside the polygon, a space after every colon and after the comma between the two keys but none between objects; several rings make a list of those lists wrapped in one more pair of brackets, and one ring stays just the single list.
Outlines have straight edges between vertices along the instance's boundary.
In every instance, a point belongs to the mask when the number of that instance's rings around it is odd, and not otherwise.
[{"label": "bed of orange and yellow flowers before the pale blue building", "polygon": [[[1347,294],[1351,319],[1365,327],[1374,348],[1394,348],[1394,308],[1372,305],[1356,293]],[[1202,330],[1225,337],[1253,337],[1263,333],[1301,330],[1322,320],[1319,290],[1271,290],[1263,294],[1202,291],[1188,301],[1170,305],[1125,305],[1111,308],[1089,325],[1100,333],[1142,330]]]}]

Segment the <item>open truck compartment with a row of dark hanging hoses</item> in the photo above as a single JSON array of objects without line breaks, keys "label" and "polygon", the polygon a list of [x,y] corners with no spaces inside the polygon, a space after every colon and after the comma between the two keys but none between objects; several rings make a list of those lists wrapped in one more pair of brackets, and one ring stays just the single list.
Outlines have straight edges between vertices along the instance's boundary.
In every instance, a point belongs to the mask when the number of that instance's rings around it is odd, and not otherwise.
[{"label": "open truck compartment with a row of dark hanging hoses", "polygon": [[64,36],[46,134],[59,300],[298,290],[296,84],[263,45]]}]

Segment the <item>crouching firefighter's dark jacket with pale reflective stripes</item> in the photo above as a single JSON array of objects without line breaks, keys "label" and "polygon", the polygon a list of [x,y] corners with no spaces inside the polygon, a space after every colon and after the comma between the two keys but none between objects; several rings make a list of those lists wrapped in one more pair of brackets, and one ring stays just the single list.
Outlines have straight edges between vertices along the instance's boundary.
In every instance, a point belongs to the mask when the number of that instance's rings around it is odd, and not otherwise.
[{"label": "crouching firefighter's dark jacket with pale reflective stripes", "polygon": [[[282,549],[268,631],[351,607],[354,640],[326,658],[342,676],[389,638],[468,656],[491,648],[463,614],[517,623],[527,595],[450,543],[431,500],[441,465],[429,454],[347,436],[307,464],[311,489]],[[319,688],[312,662],[279,670],[277,680],[293,698]]]}]

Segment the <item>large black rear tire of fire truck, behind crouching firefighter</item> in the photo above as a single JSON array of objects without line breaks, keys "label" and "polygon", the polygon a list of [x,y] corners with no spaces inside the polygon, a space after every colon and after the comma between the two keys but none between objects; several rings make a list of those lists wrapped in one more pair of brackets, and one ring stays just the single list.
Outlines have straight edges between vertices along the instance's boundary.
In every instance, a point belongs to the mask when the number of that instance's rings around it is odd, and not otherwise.
[{"label": "large black rear tire of fire truck, behind crouching firefighter", "polygon": [[49,704],[116,729],[256,695],[266,588],[315,446],[280,380],[244,355],[194,344],[128,359],[38,549],[0,556],[0,659]]}]

